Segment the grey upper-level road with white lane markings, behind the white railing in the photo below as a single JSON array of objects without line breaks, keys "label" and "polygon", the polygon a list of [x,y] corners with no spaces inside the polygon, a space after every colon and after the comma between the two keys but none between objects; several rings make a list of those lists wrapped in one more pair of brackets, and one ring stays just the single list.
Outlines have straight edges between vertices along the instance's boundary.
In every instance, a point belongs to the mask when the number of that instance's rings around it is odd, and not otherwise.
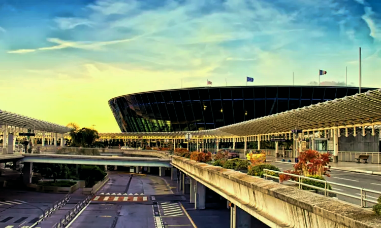
[{"label": "grey upper-level road with white lane markings, behind the white railing", "polygon": [[[284,164],[284,163],[272,163],[272,164],[278,167],[281,171],[293,169],[292,164]],[[339,184],[351,185],[351,186],[360,187],[360,188],[367,188],[367,189],[381,192],[381,176],[354,173],[349,171],[340,171],[340,170],[331,170],[330,174],[331,174],[331,177],[325,177],[326,180],[328,181],[339,183]],[[360,190],[348,188],[344,186],[332,184],[332,190],[338,193],[351,194],[357,197],[361,196]],[[366,198],[370,200],[377,200],[378,196],[379,195],[373,194],[373,193],[366,194]],[[341,196],[341,195],[337,195],[337,198],[339,200],[346,201],[348,203],[360,205],[359,199],[354,199],[354,198]],[[367,203],[366,206],[371,207],[373,205],[374,204],[372,203]]]}]

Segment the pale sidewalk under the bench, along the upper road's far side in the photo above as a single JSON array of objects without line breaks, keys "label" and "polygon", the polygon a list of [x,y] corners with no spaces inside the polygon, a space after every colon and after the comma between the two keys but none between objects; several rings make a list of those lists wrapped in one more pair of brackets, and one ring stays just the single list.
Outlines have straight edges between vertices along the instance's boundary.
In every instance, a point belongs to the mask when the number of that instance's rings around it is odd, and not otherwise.
[{"label": "pale sidewalk under the bench, along the upper road's far side", "polygon": [[[282,162],[281,161],[282,159],[284,159],[285,162]],[[294,162],[287,162],[288,160],[293,161],[293,158],[275,158],[275,157],[268,156],[269,162],[295,164]],[[381,176],[381,164],[338,162],[338,163],[329,163],[329,165],[331,166],[332,170],[343,170],[343,171],[350,171],[355,173],[366,173],[366,174]]]}]

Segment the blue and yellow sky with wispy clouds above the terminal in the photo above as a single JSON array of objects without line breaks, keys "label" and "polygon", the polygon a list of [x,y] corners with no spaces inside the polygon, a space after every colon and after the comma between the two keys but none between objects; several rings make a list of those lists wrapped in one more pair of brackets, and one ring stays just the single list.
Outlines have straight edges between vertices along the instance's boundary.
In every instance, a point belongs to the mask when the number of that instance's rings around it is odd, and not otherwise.
[{"label": "blue and yellow sky with wispy clouds above the terminal", "polygon": [[379,0],[0,0],[0,109],[120,132],[108,100],[183,87],[381,88]]}]

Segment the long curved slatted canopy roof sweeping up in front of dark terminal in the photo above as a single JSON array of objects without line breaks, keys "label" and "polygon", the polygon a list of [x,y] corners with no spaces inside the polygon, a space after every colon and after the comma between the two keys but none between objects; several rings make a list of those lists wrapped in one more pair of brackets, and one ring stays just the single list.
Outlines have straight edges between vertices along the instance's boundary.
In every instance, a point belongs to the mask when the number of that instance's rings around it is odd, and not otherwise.
[{"label": "long curved slatted canopy roof sweeping up in front of dark terminal", "polygon": [[[381,125],[381,89],[293,109],[213,130],[190,131],[201,138],[229,138],[262,134],[288,133],[292,129],[323,130],[330,128]],[[187,132],[100,133],[101,137],[178,137]]]}]

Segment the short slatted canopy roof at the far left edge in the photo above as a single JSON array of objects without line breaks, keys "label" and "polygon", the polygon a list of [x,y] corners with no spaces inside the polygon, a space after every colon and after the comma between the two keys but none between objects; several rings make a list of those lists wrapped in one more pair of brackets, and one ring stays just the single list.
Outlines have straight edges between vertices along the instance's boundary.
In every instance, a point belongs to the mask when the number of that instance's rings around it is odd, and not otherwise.
[{"label": "short slatted canopy roof at the far left edge", "polygon": [[70,131],[70,128],[66,126],[22,116],[5,110],[0,110],[0,124],[60,134]]}]

